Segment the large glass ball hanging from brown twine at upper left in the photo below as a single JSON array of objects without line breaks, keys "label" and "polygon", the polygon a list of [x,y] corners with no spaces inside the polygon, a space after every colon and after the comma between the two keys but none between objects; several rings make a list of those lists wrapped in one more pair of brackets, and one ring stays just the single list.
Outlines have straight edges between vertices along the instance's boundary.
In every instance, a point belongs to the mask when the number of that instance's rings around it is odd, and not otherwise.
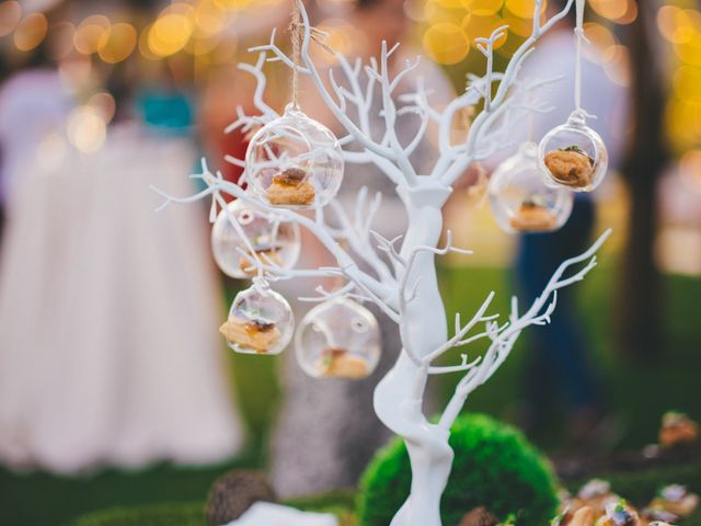
[{"label": "large glass ball hanging from brown twine at upper left", "polygon": [[343,151],[333,133],[291,104],[251,138],[246,181],[264,202],[287,208],[326,205],[343,180]]}]

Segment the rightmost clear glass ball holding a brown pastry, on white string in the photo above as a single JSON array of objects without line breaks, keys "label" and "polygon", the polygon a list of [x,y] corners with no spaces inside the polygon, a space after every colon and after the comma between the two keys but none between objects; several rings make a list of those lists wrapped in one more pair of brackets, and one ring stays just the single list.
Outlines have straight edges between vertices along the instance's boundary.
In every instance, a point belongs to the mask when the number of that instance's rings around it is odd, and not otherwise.
[{"label": "rightmost clear glass ball holding a brown pastry, on white string", "polygon": [[548,184],[574,192],[596,188],[604,181],[609,163],[601,137],[586,125],[579,111],[545,134],[538,146],[538,159]]}]

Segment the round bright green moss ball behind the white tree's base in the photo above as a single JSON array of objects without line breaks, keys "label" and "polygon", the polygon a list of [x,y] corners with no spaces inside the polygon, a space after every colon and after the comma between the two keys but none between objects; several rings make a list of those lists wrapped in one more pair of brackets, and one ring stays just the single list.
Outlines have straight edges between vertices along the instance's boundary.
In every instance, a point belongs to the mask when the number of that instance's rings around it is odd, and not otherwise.
[{"label": "round bright green moss ball behind the white tree's base", "polygon": [[[446,526],[478,506],[519,526],[542,526],[555,514],[554,476],[544,457],[514,427],[490,416],[459,418],[450,435],[452,472],[441,501]],[[404,443],[380,449],[360,481],[358,524],[387,526],[409,495],[411,470]]]}]

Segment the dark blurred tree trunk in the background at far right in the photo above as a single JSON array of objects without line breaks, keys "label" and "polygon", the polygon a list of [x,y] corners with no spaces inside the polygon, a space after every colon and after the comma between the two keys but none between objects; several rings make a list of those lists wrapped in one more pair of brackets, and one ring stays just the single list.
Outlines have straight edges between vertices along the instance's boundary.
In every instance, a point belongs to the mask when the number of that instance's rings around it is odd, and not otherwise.
[{"label": "dark blurred tree trunk in the background at far right", "polygon": [[[654,3],[654,2],[651,2]],[[667,163],[664,140],[663,75],[655,67],[653,49],[654,5],[640,4],[637,20],[629,27],[632,68],[634,133],[623,178],[631,196],[630,227],[625,241],[618,297],[618,344],[629,359],[651,362],[662,356],[662,276],[655,263],[657,182]]]}]

